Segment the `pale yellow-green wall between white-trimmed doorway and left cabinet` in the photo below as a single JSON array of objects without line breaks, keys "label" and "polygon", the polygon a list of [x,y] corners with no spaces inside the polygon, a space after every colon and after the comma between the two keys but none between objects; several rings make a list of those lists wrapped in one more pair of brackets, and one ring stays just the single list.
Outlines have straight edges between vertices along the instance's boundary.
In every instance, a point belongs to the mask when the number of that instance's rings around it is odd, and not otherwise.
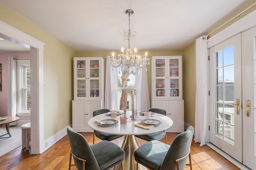
[{"label": "pale yellow-green wall between white-trimmed doorway and left cabinet", "polygon": [[72,123],[72,61],[75,51],[2,3],[0,3],[0,20],[45,43],[44,82],[47,88],[44,89],[44,140],[46,140]]}]

